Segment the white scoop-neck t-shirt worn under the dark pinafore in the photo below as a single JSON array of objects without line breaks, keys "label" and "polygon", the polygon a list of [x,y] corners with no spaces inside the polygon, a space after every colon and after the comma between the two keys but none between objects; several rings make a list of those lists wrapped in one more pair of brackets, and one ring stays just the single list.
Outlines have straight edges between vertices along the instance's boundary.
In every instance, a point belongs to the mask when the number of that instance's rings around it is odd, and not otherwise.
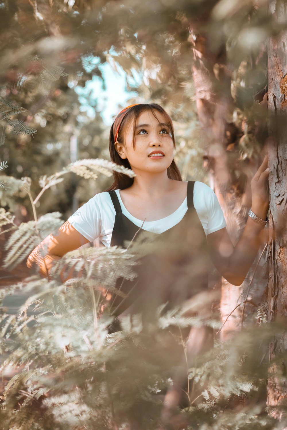
[{"label": "white scoop-neck t-shirt worn under the dark pinafore", "polygon": [[[135,218],[123,206],[120,190],[115,190],[115,192],[123,215],[129,218],[136,226],[141,227],[143,221]],[[193,204],[206,235],[226,227],[226,221],[217,197],[214,191],[204,182],[195,181]],[[142,229],[162,233],[179,223],[187,209],[187,197],[185,197],[185,200],[175,212],[157,221],[145,221]],[[80,209],[68,218],[68,221],[90,242],[99,237],[105,246],[110,246],[115,215],[116,212],[110,194],[108,191],[104,191],[84,203]]]}]

